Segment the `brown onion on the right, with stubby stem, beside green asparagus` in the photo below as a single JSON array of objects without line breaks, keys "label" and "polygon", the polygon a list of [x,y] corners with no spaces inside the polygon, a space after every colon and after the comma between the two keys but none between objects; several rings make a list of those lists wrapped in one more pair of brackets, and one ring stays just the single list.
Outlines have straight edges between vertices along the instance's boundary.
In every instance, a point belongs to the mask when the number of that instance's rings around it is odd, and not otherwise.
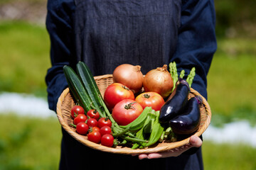
[{"label": "brown onion on the right, with stubby stem, beside green asparagus", "polygon": [[144,91],[154,91],[166,98],[171,94],[174,87],[174,81],[167,70],[167,65],[157,67],[146,73],[143,81]]}]

